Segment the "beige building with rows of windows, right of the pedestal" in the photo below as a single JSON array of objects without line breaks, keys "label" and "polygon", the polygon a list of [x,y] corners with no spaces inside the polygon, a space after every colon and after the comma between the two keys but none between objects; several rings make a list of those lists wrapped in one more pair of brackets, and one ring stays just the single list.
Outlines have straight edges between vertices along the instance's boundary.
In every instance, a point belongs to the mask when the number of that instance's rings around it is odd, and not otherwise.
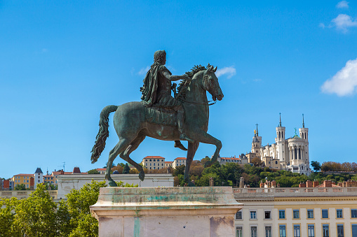
[{"label": "beige building with rows of windows, right of the pedestal", "polygon": [[357,236],[357,187],[243,188],[234,197],[244,204],[239,237]]}]

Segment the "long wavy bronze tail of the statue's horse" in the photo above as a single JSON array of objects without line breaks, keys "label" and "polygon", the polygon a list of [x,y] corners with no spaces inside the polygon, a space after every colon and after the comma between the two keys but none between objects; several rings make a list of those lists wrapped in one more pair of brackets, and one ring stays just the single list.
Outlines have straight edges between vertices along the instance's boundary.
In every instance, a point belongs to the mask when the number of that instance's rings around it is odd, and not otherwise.
[{"label": "long wavy bronze tail of the statue's horse", "polygon": [[109,136],[109,113],[116,111],[117,108],[118,106],[106,106],[100,113],[99,131],[97,136],[95,137],[95,144],[91,151],[92,157],[90,157],[92,164],[98,160],[100,154],[102,154],[102,151],[105,148],[105,140],[107,140],[107,137]]}]

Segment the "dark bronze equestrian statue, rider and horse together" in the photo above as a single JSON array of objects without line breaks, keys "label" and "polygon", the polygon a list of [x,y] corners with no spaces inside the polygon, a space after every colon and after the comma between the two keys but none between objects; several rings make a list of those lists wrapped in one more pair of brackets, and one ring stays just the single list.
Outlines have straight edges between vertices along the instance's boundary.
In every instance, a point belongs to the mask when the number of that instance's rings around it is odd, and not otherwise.
[{"label": "dark bronze equestrian statue, rider and horse together", "polygon": [[[215,154],[205,166],[217,161],[222,143],[207,133],[210,102],[206,94],[209,92],[213,101],[223,99],[218,78],[215,76],[217,67],[209,64],[207,67],[194,66],[183,76],[173,76],[165,64],[166,52],[156,51],[154,64],[147,72],[144,85],[140,89],[142,101],[124,103],[121,106],[106,106],[100,113],[100,130],[92,149],[91,161],[95,163],[105,148],[105,141],[109,136],[109,113],[115,112],[114,129],[119,136],[119,143],[109,152],[105,172],[105,178],[112,187],[115,187],[116,183],[110,177],[110,171],[118,155],[137,168],[140,180],[144,180],[142,166],[130,159],[129,155],[146,136],[163,141],[175,141],[175,147],[182,150],[186,149],[180,141],[188,141],[184,172],[184,180],[188,185],[193,185],[189,180],[189,167],[199,143],[216,146]],[[177,92],[175,83],[171,85],[171,81],[175,80],[182,80]],[[171,89],[174,91],[174,97],[171,96]]]}]

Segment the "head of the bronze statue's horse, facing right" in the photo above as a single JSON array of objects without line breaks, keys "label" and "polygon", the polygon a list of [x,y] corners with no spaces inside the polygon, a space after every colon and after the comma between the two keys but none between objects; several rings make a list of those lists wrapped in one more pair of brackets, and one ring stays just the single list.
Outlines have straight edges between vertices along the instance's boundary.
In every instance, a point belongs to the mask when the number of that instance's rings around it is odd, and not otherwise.
[{"label": "head of the bronze statue's horse, facing right", "polygon": [[206,91],[210,92],[213,101],[216,101],[216,99],[221,101],[223,99],[223,93],[220,83],[218,83],[218,78],[215,75],[215,71],[217,71],[217,66],[215,68],[213,68],[213,66],[209,66],[208,69],[206,69],[203,73],[202,85]]}]

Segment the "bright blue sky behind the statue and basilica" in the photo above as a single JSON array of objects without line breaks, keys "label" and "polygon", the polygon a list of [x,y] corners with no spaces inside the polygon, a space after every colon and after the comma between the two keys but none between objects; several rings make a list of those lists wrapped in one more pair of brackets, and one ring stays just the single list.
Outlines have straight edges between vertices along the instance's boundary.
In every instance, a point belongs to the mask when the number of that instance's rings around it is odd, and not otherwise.
[{"label": "bright blue sky behind the statue and basilica", "polygon": [[[139,101],[156,50],[176,75],[218,67],[224,99],[209,133],[222,157],[249,152],[255,124],[274,143],[309,128],[310,161],[356,161],[355,1],[0,1],[0,177],[102,168],[90,150],[109,104]],[[213,155],[201,144],[195,159]],[[146,138],[131,157],[186,154]],[[122,160],[118,157],[114,163]]]}]

